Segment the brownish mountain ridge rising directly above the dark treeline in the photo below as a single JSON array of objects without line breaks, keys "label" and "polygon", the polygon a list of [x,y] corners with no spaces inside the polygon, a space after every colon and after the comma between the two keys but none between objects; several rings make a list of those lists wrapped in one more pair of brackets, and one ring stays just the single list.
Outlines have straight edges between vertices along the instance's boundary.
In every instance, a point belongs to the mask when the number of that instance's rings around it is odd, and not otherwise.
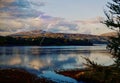
[{"label": "brownish mountain ridge rising directly above the dark treeline", "polygon": [[34,30],[34,31],[26,31],[26,32],[18,32],[15,34],[11,34],[9,36],[12,37],[98,37],[97,35],[90,35],[90,34],[75,34],[75,33],[53,33],[53,32],[46,32],[42,30]]}]

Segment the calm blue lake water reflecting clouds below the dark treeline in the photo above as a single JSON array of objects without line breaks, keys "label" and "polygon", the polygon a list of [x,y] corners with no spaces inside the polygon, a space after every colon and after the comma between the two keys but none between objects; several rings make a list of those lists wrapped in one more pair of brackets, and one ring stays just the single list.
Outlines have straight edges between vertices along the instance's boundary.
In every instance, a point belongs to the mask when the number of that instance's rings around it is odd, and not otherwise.
[{"label": "calm blue lake water reflecting clouds below the dark treeline", "polygon": [[0,66],[51,71],[83,68],[87,56],[97,63],[113,63],[105,46],[43,46],[0,47]]}]

